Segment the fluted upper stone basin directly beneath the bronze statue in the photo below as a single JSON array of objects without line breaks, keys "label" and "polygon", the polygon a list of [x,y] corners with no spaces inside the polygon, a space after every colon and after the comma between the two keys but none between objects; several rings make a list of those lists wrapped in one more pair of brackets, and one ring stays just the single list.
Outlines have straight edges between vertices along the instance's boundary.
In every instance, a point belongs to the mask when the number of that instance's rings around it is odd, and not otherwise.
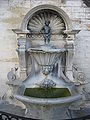
[{"label": "fluted upper stone basin directly beneath the bronze statue", "polygon": [[28,51],[39,65],[51,66],[55,63],[57,58],[66,51],[66,49],[56,49],[54,46],[43,45],[40,46],[40,48],[30,48]]}]

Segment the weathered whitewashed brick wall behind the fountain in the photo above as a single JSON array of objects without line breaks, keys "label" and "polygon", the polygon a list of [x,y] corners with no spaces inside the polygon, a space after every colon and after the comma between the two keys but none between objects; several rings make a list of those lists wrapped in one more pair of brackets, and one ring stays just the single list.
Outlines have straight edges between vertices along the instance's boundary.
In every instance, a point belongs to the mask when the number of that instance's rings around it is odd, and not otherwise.
[{"label": "weathered whitewashed brick wall behind the fountain", "polygon": [[75,41],[74,63],[90,81],[90,8],[82,0],[0,0],[0,96],[8,89],[7,73],[10,68],[18,66],[17,39],[12,29],[20,27],[30,9],[42,4],[60,7],[72,20],[72,28],[81,30]]}]

